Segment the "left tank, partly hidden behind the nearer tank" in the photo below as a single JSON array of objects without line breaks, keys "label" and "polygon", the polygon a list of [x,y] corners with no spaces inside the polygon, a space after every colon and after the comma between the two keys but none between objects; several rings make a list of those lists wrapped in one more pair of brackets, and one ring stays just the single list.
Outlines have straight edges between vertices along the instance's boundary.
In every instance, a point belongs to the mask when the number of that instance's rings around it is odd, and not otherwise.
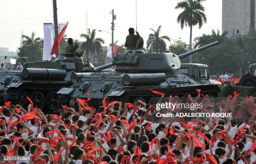
[{"label": "left tank, partly hidden behind the nearer tank", "polygon": [[[20,105],[31,98],[35,107],[57,109],[58,94],[63,87],[71,86],[72,73],[100,72],[80,55],[61,54],[54,61],[26,62],[23,70],[0,70],[0,102],[11,101]],[[97,69],[97,70],[95,70]]]}]

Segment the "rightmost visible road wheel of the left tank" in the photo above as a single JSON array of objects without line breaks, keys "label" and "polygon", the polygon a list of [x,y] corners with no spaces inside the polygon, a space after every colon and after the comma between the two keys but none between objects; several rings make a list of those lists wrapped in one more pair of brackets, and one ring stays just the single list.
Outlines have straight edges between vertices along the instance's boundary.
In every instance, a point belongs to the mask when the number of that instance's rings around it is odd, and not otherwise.
[{"label": "rightmost visible road wheel of the left tank", "polygon": [[58,109],[58,94],[55,91],[50,91],[46,94],[46,107],[50,110],[50,111],[56,111],[56,109]]}]

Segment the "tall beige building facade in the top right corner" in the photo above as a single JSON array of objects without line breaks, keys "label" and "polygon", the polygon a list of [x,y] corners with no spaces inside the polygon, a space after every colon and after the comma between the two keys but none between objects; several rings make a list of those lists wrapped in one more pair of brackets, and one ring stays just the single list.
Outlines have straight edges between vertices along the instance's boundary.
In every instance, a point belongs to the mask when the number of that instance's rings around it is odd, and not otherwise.
[{"label": "tall beige building facade in the top right corner", "polygon": [[228,36],[255,30],[255,0],[222,0],[222,31]]}]

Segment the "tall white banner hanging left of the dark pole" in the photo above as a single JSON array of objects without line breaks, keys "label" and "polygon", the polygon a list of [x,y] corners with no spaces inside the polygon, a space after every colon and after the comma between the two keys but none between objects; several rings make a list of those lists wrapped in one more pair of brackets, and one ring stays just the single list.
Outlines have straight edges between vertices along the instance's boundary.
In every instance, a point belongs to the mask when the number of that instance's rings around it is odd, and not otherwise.
[{"label": "tall white banner hanging left of the dark pole", "polygon": [[44,23],[44,49],[43,60],[51,60],[51,48],[54,43],[54,26],[52,23]]}]

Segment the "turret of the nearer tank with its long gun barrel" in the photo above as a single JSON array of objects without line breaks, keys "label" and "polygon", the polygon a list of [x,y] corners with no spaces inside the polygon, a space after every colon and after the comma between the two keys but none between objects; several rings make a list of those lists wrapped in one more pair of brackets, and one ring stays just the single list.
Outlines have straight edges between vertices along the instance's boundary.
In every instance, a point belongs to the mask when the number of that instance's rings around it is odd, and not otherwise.
[{"label": "turret of the nearer tank with its long gun barrel", "polygon": [[173,53],[147,53],[143,49],[128,49],[124,54],[114,57],[113,65],[118,72],[168,72],[168,75],[175,75],[180,68],[180,59],[218,43],[213,42],[178,56]]}]

